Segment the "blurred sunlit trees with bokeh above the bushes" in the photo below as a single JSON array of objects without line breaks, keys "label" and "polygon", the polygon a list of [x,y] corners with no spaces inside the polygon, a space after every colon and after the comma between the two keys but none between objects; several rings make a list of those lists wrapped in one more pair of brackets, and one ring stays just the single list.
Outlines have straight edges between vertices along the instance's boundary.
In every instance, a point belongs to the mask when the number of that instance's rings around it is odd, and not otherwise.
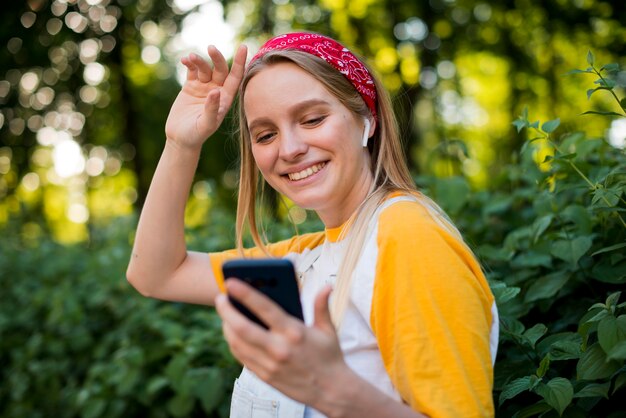
[{"label": "blurred sunlit trees with bokeh above the bushes", "polygon": [[[411,167],[462,174],[477,188],[526,139],[511,125],[524,105],[606,136],[610,121],[576,115],[609,108],[610,97],[590,104],[573,88],[580,78],[563,74],[584,67],[589,49],[615,62],[626,48],[619,0],[28,0],[7,2],[3,16],[0,224],[21,217],[34,241],[85,241],[92,225],[141,206],[180,88],[178,60],[206,55],[209,43],[232,54],[291,29],[338,38],[393,93]],[[227,120],[207,142],[192,225],[215,206],[233,207],[233,128]],[[613,122],[617,140],[625,130]]]}]

